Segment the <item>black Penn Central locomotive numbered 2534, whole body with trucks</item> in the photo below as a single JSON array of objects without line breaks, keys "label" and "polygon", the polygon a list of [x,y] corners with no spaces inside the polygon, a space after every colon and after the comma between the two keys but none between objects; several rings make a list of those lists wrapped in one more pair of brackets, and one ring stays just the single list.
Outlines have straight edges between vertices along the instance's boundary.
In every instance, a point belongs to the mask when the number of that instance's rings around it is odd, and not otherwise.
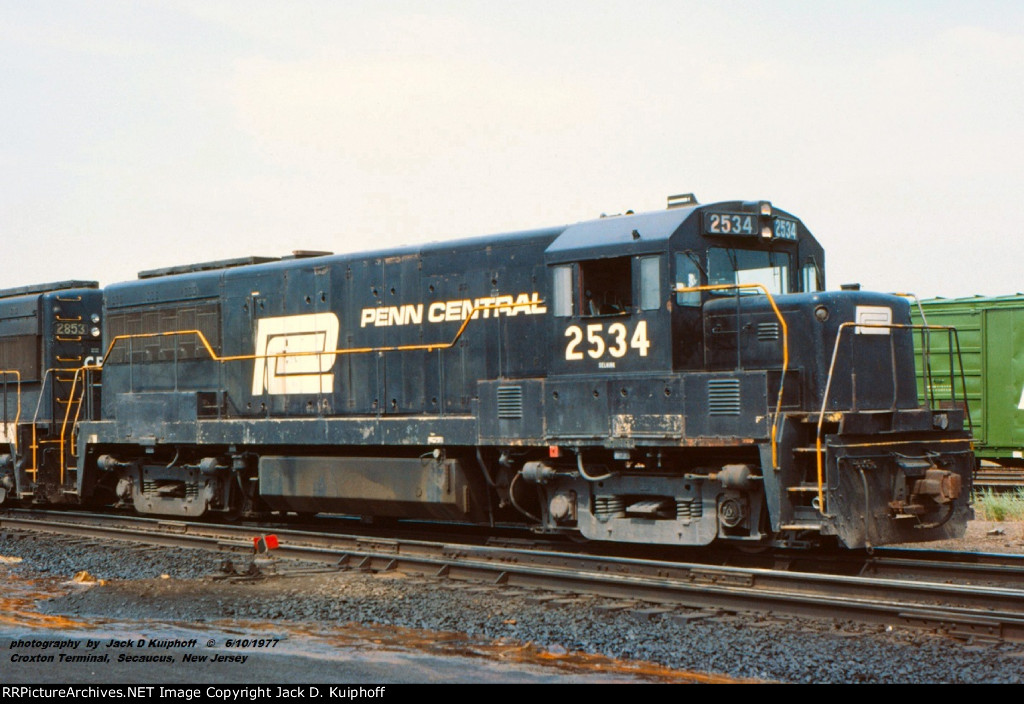
[{"label": "black Penn Central locomotive numbered 2534, whole body with trucks", "polygon": [[963,533],[966,413],[918,398],[907,303],[825,291],[767,201],[670,205],[110,285],[80,498],[667,545]]}]

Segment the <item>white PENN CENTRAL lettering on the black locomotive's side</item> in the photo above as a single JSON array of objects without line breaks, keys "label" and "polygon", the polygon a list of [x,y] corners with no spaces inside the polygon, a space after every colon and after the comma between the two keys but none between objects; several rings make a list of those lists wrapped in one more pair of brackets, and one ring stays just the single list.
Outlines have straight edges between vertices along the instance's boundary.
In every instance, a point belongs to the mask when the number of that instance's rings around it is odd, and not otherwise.
[{"label": "white PENN CENTRAL lettering on the black locomotive's side", "polygon": [[489,318],[499,315],[515,316],[543,315],[548,312],[541,302],[541,295],[519,294],[517,296],[493,296],[488,298],[459,299],[456,301],[435,301],[430,305],[407,303],[400,306],[375,306],[364,308],[359,314],[359,327],[388,327],[391,325],[421,325],[424,312],[427,322],[451,322],[473,318]]}]

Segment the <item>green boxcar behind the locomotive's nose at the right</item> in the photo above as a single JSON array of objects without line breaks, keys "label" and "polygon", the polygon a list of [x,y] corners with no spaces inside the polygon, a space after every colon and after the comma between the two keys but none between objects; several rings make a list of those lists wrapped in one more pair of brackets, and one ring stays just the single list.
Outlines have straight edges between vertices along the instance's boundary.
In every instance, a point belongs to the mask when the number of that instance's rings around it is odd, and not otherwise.
[{"label": "green boxcar behind the locomotive's nose at the right", "polygon": [[[921,304],[928,324],[956,328],[978,457],[1024,467],[1024,294],[939,298]],[[922,322],[920,310],[914,310],[913,322]],[[924,338],[914,339],[919,391],[933,393],[938,405],[954,398],[962,402],[958,380],[955,389],[949,385],[950,358],[954,369],[957,364],[955,344],[949,344],[945,333],[933,333],[926,364]]]}]

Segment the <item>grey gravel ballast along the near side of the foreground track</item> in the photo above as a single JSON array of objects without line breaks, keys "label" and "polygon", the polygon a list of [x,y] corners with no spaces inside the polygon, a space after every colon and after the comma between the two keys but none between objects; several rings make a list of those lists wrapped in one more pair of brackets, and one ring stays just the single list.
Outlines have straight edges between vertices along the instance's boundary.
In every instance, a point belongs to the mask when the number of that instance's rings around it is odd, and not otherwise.
[{"label": "grey gravel ballast along the near side of the foreground track", "polygon": [[[984,535],[984,533],[982,533]],[[1013,549],[1015,535],[994,536]],[[180,548],[69,543],[28,533],[0,537],[0,575],[104,583],[39,605],[80,619],[222,626],[225,621],[305,627],[409,628],[422,643],[458,641],[488,656],[495,644],[552,656],[585,653],[672,670],[779,683],[1024,683],[1024,645],[972,642],[904,629],[758,613],[623,608],[600,599],[552,599],[400,573],[270,565],[263,578],[224,578],[222,555]],[[242,562],[234,558],[237,568]],[[274,567],[275,565],[275,567]],[[627,605],[629,606],[629,605]],[[458,635],[453,635],[458,634]],[[84,637],[80,635],[80,637]],[[406,633],[406,640],[413,640]],[[654,677],[665,680],[670,677]],[[460,679],[473,680],[470,671]]]}]

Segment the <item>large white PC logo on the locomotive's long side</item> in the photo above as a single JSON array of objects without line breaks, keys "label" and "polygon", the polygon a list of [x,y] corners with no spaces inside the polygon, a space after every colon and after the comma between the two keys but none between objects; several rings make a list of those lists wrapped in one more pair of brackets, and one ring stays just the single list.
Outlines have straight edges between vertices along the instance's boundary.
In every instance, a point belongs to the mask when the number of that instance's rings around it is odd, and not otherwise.
[{"label": "large white PC logo on the locomotive's long side", "polygon": [[338,316],[306,313],[260,318],[256,325],[253,395],[317,394],[334,390]]}]

